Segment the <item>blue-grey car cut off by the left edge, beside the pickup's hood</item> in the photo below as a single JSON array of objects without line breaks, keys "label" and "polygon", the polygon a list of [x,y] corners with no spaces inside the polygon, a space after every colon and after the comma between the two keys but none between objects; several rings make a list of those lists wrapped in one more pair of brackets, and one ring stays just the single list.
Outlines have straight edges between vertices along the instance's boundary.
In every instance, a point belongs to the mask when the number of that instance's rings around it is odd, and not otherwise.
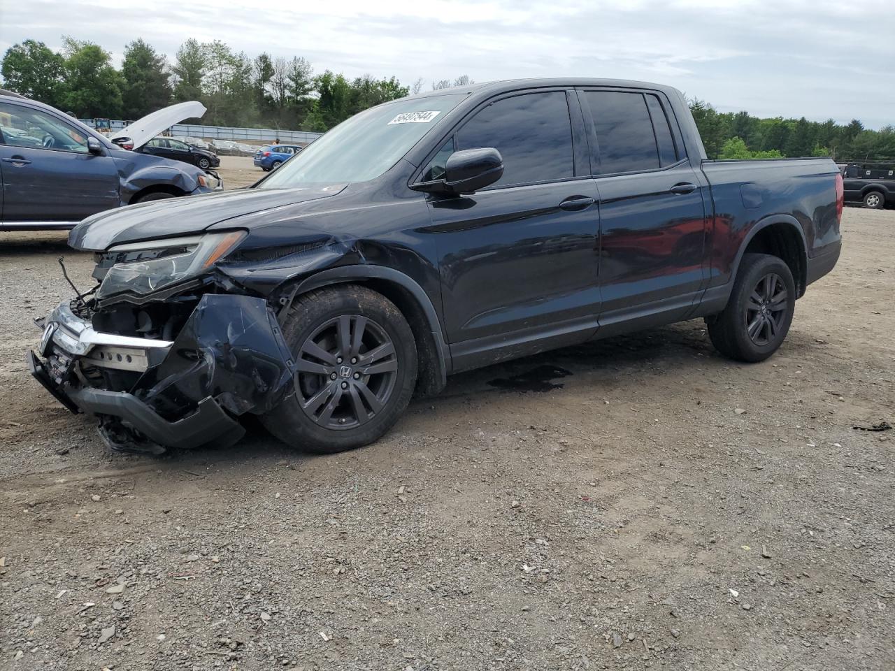
[{"label": "blue-grey car cut off by the left edge, beside the pickup's hood", "polygon": [[0,93],[0,231],[71,228],[130,203],[208,193],[216,176],[115,146],[53,107]]}]

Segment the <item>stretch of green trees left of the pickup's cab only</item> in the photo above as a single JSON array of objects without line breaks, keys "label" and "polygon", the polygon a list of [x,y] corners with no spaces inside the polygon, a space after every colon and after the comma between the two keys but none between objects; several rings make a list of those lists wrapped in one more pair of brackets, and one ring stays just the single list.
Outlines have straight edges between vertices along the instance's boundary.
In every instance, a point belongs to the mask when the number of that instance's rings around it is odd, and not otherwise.
[{"label": "stretch of green trees left of the pickup's cab only", "polygon": [[[202,123],[276,127],[325,132],[351,115],[424,88],[422,79],[404,86],[395,77],[348,79],[315,75],[304,58],[261,53],[249,57],[220,40],[187,39],[174,63],[143,39],[124,48],[118,70],[112,55],[89,41],[63,38],[55,52],[26,39],[6,50],[3,87],[80,118],[134,120],[183,100],[200,100]],[[468,76],[433,81],[432,89],[471,83]]]}]

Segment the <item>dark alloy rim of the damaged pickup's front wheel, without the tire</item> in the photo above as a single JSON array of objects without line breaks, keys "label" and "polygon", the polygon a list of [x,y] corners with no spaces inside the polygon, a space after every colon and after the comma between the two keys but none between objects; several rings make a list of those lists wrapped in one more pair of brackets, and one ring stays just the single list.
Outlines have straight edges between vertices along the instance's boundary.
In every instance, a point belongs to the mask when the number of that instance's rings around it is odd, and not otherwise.
[{"label": "dark alloy rim of the damaged pickup's front wheel, without the tire", "polygon": [[299,352],[299,404],[321,427],[356,429],[387,405],[397,367],[395,344],[377,322],[362,315],[329,319]]}]

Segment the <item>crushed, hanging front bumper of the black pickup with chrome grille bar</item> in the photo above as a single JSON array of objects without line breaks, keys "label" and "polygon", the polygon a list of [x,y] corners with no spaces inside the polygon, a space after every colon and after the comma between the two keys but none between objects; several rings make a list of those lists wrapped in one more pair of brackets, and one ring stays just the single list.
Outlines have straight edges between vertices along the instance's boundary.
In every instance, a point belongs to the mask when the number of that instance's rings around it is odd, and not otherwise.
[{"label": "crushed, hanging front bumper of the black pickup with chrome grille bar", "polygon": [[267,412],[292,386],[291,354],[260,298],[206,294],[173,341],[100,333],[68,303],[38,326],[31,374],[72,412],[96,415],[115,449],[235,442],[236,418]]}]

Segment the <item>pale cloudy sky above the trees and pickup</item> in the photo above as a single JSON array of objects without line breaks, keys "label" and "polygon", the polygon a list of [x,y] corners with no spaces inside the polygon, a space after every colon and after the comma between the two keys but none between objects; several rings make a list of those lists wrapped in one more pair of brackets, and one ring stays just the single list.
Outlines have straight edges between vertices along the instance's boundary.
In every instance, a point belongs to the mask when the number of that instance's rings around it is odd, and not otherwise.
[{"label": "pale cloudy sky above the trees and pickup", "polygon": [[0,0],[0,52],[32,38],[98,43],[121,63],[143,38],[173,61],[187,38],[315,72],[405,85],[609,77],[670,84],[721,112],[867,128],[895,123],[893,0]]}]

